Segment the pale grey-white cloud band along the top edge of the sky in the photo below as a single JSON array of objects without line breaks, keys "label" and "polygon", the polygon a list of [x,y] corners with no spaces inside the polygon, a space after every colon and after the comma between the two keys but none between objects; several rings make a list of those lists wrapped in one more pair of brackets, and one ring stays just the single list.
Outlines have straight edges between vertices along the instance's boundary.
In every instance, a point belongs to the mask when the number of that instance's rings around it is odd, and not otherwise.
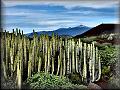
[{"label": "pale grey-white cloud band along the top edge of the sky", "polygon": [[84,1],[84,0],[34,0],[34,1],[10,1],[10,0],[4,0],[3,4],[6,7],[12,7],[16,5],[59,5],[59,6],[65,6],[66,8],[72,8],[76,6],[81,6],[81,7],[93,7],[93,8],[104,8],[104,7],[111,7],[119,3],[119,0],[92,0],[92,1]]}]

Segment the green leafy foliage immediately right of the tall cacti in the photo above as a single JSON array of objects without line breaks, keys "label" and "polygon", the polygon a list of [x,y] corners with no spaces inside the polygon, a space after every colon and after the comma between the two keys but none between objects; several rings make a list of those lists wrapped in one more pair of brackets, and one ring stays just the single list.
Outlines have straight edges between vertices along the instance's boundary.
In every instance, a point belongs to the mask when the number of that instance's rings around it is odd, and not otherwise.
[{"label": "green leafy foliage immediately right of the tall cacti", "polygon": [[99,47],[102,62],[102,75],[110,75],[116,64],[116,49],[112,45]]}]

